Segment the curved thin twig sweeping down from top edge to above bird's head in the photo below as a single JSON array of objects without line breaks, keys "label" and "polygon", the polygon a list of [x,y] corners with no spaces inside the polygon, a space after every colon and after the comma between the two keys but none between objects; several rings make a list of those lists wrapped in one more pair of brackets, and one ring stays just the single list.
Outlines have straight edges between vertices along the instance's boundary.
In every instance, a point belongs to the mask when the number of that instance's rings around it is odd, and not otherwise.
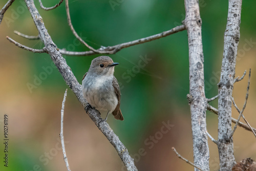
[{"label": "curved thin twig sweeping down from top edge to above bird's head", "polygon": [[[40,1],[40,0],[39,0]],[[66,12],[67,12],[67,18],[68,18],[68,24],[69,24],[69,27],[71,29],[71,31],[73,32],[73,34],[76,36],[76,38],[83,44],[85,45],[87,48],[89,48],[91,51],[95,52],[95,53],[99,53],[99,54],[102,54],[102,53],[109,53],[109,54],[114,54],[117,52],[117,49],[114,49],[112,51],[99,51],[99,50],[95,50],[93,47],[89,46],[75,31],[72,23],[71,23],[71,17],[70,17],[70,12],[69,12],[69,0],[66,0],[65,1],[66,3]]]}]

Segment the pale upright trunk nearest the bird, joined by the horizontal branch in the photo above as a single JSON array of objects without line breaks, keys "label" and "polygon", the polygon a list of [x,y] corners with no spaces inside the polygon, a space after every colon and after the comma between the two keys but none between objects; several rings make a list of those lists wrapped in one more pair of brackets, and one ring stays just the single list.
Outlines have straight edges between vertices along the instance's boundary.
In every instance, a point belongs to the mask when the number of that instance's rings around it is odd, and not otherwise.
[{"label": "pale upright trunk nearest the bird, joined by the horizontal branch", "polygon": [[[187,29],[189,48],[189,91],[193,135],[194,164],[203,170],[209,170],[209,147],[206,134],[207,100],[204,94],[204,56],[201,35],[202,20],[197,0],[185,0],[186,18],[183,21]],[[195,170],[198,170],[195,168]]]}]

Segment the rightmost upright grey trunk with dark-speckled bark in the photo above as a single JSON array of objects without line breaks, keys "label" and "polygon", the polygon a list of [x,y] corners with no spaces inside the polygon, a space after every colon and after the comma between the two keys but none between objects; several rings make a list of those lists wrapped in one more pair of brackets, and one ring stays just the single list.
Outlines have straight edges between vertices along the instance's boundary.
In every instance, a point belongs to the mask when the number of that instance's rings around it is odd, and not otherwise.
[{"label": "rightmost upright grey trunk with dark-speckled bark", "polygon": [[227,26],[224,33],[224,52],[219,87],[218,149],[220,170],[231,170],[236,164],[233,155],[233,139],[230,137],[233,80],[236,69],[238,42],[240,38],[241,0],[229,0]]}]

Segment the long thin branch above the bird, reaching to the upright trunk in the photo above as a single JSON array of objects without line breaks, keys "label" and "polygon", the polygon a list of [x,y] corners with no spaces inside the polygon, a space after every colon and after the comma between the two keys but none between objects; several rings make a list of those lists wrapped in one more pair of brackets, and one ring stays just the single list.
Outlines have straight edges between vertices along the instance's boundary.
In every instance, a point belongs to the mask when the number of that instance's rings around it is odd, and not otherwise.
[{"label": "long thin branch above the bird, reaching to the upright trunk", "polygon": [[[155,35],[152,35],[152,36],[140,38],[140,39],[133,40],[133,41],[124,42],[122,44],[118,44],[118,45],[115,45],[115,46],[109,46],[109,47],[106,47],[104,49],[99,48],[97,50],[102,51],[102,53],[103,53],[104,50],[109,50],[109,51],[111,51],[113,49],[121,50],[123,48],[128,48],[130,46],[139,45],[139,44],[144,44],[145,42],[148,42],[148,41],[152,41],[152,40],[156,40],[156,39],[159,39],[159,38],[162,38],[162,37],[166,37],[168,35],[178,33],[178,32],[183,31],[183,30],[186,30],[186,28],[185,28],[184,25],[181,25],[181,26],[177,26],[173,29],[170,29],[168,31],[164,31],[162,33],[158,33],[158,34],[155,34]],[[65,49],[60,49],[59,52],[62,55],[70,55],[70,56],[88,56],[88,55],[96,54],[96,52],[94,52],[94,51],[71,52],[71,51],[66,51]],[[105,54],[107,54],[107,52],[108,51],[104,51]]]}]

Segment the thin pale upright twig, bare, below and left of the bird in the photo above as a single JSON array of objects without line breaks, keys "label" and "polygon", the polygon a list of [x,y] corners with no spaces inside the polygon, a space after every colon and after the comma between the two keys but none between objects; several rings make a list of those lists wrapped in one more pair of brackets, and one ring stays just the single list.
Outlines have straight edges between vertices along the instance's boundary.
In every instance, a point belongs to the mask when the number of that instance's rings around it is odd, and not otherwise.
[{"label": "thin pale upright twig, bare, below and left of the bird", "polygon": [[66,163],[68,171],[70,171],[69,162],[68,162],[68,158],[67,158],[66,150],[65,150],[64,137],[63,137],[63,118],[64,118],[64,108],[65,108],[65,101],[66,101],[66,97],[67,97],[67,91],[68,91],[68,89],[66,89],[66,91],[65,91],[63,101],[62,101],[62,105],[61,105],[61,111],[60,111],[61,120],[60,120],[60,134],[59,134],[59,137],[60,137],[60,140],[61,140],[61,146],[62,146],[64,161]]}]

